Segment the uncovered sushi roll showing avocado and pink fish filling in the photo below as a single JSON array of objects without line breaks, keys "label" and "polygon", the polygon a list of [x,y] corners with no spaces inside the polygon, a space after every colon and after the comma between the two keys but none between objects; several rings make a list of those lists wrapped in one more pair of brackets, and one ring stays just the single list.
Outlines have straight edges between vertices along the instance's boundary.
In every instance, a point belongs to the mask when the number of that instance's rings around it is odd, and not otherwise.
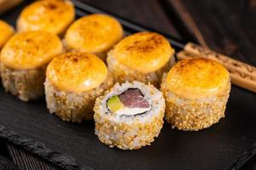
[{"label": "uncovered sushi roll showing avocado and pink fish filling", "polygon": [[149,145],[164,123],[165,99],[143,82],[116,83],[94,107],[95,133],[103,144],[122,150]]}]

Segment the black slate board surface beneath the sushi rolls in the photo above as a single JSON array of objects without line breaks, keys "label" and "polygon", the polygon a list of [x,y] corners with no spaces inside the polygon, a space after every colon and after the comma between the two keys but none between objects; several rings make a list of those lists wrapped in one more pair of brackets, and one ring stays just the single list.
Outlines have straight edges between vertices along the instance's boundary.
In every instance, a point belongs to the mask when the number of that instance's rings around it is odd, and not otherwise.
[{"label": "black slate board surface beneath the sushi rolls", "polygon": [[[1,19],[14,24],[21,8]],[[93,122],[61,122],[44,99],[24,103],[0,86],[0,137],[66,169],[236,169],[256,142],[255,111],[256,94],[232,87],[226,117],[218,124],[200,132],[165,124],[152,145],[118,150],[99,142]]]}]

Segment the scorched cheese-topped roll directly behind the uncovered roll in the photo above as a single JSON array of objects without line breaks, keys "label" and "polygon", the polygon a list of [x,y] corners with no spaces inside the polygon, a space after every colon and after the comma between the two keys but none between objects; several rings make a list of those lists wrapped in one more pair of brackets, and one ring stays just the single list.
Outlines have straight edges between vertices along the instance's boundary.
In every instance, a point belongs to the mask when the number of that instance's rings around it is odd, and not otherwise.
[{"label": "scorched cheese-topped roll directly behind the uncovered roll", "polygon": [[108,53],[108,69],[114,82],[150,82],[158,87],[163,72],[175,61],[173,54],[165,37],[139,32],[125,37]]}]

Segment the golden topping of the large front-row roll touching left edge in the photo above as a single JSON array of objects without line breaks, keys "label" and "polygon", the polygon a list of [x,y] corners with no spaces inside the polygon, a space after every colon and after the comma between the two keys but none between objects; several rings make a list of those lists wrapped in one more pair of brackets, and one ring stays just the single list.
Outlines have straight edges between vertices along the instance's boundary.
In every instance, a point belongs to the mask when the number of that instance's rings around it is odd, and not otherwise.
[{"label": "golden topping of the large front-row roll touching left edge", "polygon": [[49,63],[62,52],[59,37],[46,31],[26,31],[15,34],[4,45],[1,62],[17,70],[34,69]]}]

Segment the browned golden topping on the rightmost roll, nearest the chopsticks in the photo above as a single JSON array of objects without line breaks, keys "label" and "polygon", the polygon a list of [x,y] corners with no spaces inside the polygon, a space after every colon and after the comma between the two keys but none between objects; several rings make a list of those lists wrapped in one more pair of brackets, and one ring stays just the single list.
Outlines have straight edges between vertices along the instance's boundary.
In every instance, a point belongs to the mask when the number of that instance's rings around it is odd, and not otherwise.
[{"label": "browned golden topping on the rightmost roll, nearest the chopsticks", "polygon": [[218,62],[204,58],[183,59],[166,77],[167,88],[185,99],[221,94],[229,83],[229,71]]}]

